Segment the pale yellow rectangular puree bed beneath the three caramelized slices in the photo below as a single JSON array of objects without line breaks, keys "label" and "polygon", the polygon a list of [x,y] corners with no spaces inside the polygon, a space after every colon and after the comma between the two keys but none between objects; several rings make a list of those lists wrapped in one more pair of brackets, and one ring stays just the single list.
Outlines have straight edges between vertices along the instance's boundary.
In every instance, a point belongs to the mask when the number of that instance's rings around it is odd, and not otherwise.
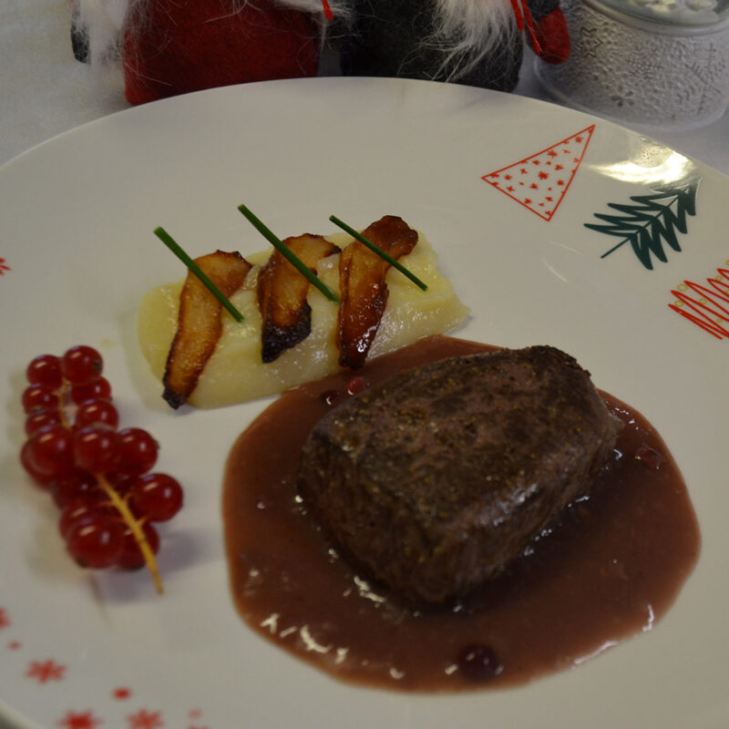
[{"label": "pale yellow rectangular puree bed beneath the three caramelized slices", "polygon": [[[353,241],[346,234],[327,238],[343,249]],[[236,322],[228,313],[222,313],[221,338],[190,395],[190,405],[220,407],[274,395],[340,368],[335,337],[338,306],[313,287],[307,296],[311,306],[311,334],[274,362],[262,362],[262,316],[256,288],[259,273],[270,254],[246,256],[254,265],[241,288],[229,297],[244,321]],[[328,256],[316,267],[319,278],[335,292],[339,290],[340,256],[340,253]],[[393,352],[429,334],[446,333],[467,318],[467,307],[438,271],[436,252],[422,233],[418,234],[413,251],[400,262],[425,282],[427,289],[422,291],[393,268],[386,272],[389,295],[369,358]],[[178,326],[182,286],[183,282],[159,286],[144,297],[139,309],[139,343],[153,373],[160,379]]]}]

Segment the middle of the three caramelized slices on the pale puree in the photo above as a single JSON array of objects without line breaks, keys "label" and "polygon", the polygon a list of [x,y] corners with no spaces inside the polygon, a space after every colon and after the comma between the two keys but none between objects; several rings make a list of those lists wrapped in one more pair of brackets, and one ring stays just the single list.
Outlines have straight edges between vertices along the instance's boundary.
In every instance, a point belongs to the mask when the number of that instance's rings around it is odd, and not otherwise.
[{"label": "middle of the three caramelized slices on the pale puree", "polygon": [[[339,248],[322,235],[304,233],[283,241],[313,272],[317,262]],[[258,274],[256,294],[261,311],[262,362],[273,362],[312,331],[312,307],[306,301],[310,282],[274,251]]]}]

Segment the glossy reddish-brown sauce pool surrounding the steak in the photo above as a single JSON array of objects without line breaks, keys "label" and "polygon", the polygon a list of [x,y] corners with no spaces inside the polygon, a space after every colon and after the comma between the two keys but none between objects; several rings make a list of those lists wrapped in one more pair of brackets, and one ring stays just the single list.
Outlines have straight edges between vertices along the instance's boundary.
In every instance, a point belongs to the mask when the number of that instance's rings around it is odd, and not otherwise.
[{"label": "glossy reddish-brown sauce pool surrounding the steak", "polygon": [[681,473],[639,413],[589,498],[572,504],[498,580],[447,608],[412,611],[349,568],[296,492],[312,427],[347,389],[496,347],[428,337],[282,395],[238,438],[223,484],[231,592],[241,618],[335,678],[403,691],[526,683],[652,628],[693,570],[700,535]]}]

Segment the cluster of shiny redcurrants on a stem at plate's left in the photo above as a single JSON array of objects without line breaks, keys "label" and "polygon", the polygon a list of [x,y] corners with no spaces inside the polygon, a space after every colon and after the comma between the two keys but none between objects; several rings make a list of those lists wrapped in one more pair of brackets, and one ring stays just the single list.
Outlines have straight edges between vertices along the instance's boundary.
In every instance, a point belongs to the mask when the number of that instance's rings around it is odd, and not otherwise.
[{"label": "cluster of shiny redcurrants on a stem at plate's left", "polygon": [[37,356],[26,369],[26,435],[20,460],[61,509],[59,529],[83,567],[132,570],[159,582],[159,533],[182,506],[180,483],[150,473],[159,446],[146,430],[118,430],[111,386],[93,347]]}]

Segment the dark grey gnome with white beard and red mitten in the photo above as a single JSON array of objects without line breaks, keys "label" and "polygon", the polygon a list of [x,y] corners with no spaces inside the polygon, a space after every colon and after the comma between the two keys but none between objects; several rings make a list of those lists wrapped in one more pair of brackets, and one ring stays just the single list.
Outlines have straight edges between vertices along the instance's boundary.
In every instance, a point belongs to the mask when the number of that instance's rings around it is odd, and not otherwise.
[{"label": "dark grey gnome with white beard and red mitten", "polygon": [[548,63],[570,55],[559,0],[353,0],[347,75],[453,81],[513,91],[526,37]]}]

